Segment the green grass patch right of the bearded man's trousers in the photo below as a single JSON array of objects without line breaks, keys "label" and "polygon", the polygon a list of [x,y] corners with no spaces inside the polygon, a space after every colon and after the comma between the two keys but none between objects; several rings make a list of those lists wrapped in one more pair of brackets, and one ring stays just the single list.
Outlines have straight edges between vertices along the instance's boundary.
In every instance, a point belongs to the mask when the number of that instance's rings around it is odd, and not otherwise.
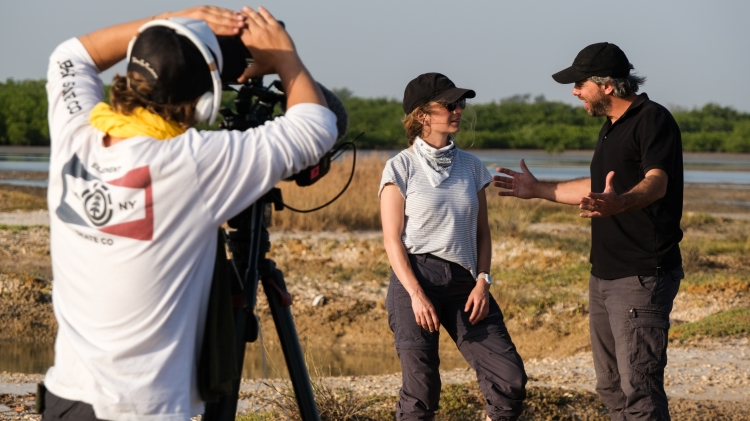
[{"label": "green grass patch right of the bearded man's trousers", "polygon": [[670,339],[723,337],[750,334],[750,308],[733,308],[712,314],[697,322],[683,323],[669,331]]}]

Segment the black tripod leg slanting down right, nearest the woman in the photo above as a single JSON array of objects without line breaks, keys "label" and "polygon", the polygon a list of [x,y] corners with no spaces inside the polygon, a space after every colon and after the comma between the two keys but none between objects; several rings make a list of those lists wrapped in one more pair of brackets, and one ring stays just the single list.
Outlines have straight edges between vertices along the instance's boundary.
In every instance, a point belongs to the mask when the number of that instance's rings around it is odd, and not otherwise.
[{"label": "black tripod leg slanting down right, nearest the woman", "polygon": [[287,306],[282,305],[282,297],[279,296],[271,283],[274,283],[281,291],[286,291],[284,275],[280,270],[273,269],[271,276],[263,279],[263,290],[268,297],[268,306],[271,309],[276,331],[279,333],[279,341],[281,342],[281,348],[284,350],[284,359],[286,359],[286,366],[289,369],[289,377],[292,379],[292,387],[294,388],[294,396],[297,397],[300,415],[303,421],[320,421],[318,405],[315,403],[310,375],[307,372],[305,356],[302,354],[302,347],[299,344],[292,311],[288,304]]}]

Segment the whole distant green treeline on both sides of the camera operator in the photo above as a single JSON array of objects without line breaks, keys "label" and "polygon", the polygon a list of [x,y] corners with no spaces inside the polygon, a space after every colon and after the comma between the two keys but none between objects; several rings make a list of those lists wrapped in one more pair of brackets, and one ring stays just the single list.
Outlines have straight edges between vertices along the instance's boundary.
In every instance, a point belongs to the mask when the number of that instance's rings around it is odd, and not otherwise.
[{"label": "whole distant green treeline on both sides of the camera operator", "polygon": [[[0,82],[0,145],[49,145],[47,98],[43,80]],[[349,133],[365,149],[406,145],[401,102],[359,98],[335,89],[349,111]],[[231,96],[225,95],[225,103]],[[672,109],[686,151],[750,152],[750,113],[709,103],[692,110]],[[593,149],[603,118],[591,118],[579,105],[516,95],[474,104],[464,112],[461,146],[493,149]]]}]

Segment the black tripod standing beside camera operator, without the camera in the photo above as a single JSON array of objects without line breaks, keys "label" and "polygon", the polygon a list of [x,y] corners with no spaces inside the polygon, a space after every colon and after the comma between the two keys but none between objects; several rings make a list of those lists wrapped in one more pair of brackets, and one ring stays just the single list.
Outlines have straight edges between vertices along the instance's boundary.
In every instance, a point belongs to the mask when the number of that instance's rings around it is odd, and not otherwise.
[{"label": "black tripod standing beside camera operator, without the camera", "polygon": [[[315,403],[310,377],[290,310],[292,297],[286,290],[284,275],[276,268],[273,260],[266,258],[271,245],[266,229],[271,218],[271,205],[276,210],[282,209],[281,190],[272,189],[229,221],[229,226],[235,231],[229,233],[227,244],[233,255],[236,274],[242,280],[241,284],[236,284],[233,288],[234,292],[239,292],[241,297],[241,305],[236,303],[234,308],[237,367],[241,371],[245,357],[245,343],[254,342],[258,338],[259,326],[254,310],[260,282],[263,284],[263,291],[268,298],[268,306],[279,334],[300,415],[305,421],[319,421],[318,406]],[[239,389],[240,379],[237,379],[232,384],[231,394],[222,397],[218,402],[206,404],[203,419],[206,421],[234,420],[237,413]]]}]

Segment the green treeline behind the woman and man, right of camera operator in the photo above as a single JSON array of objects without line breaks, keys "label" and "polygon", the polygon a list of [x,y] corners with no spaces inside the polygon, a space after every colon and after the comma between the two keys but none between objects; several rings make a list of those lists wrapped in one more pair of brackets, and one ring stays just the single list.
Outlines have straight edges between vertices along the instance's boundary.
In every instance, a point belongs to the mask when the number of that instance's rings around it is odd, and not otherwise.
[{"label": "green treeline behind the woman and man, right of camera operator", "polygon": [[[365,132],[364,148],[405,145],[401,102],[385,98],[343,95],[349,111],[349,131]],[[750,113],[709,103],[693,110],[674,109],[685,151],[750,152]],[[581,106],[548,101],[544,96],[515,95],[499,102],[474,104],[464,113],[460,146],[494,149],[593,149],[602,118],[592,118]]]}]

